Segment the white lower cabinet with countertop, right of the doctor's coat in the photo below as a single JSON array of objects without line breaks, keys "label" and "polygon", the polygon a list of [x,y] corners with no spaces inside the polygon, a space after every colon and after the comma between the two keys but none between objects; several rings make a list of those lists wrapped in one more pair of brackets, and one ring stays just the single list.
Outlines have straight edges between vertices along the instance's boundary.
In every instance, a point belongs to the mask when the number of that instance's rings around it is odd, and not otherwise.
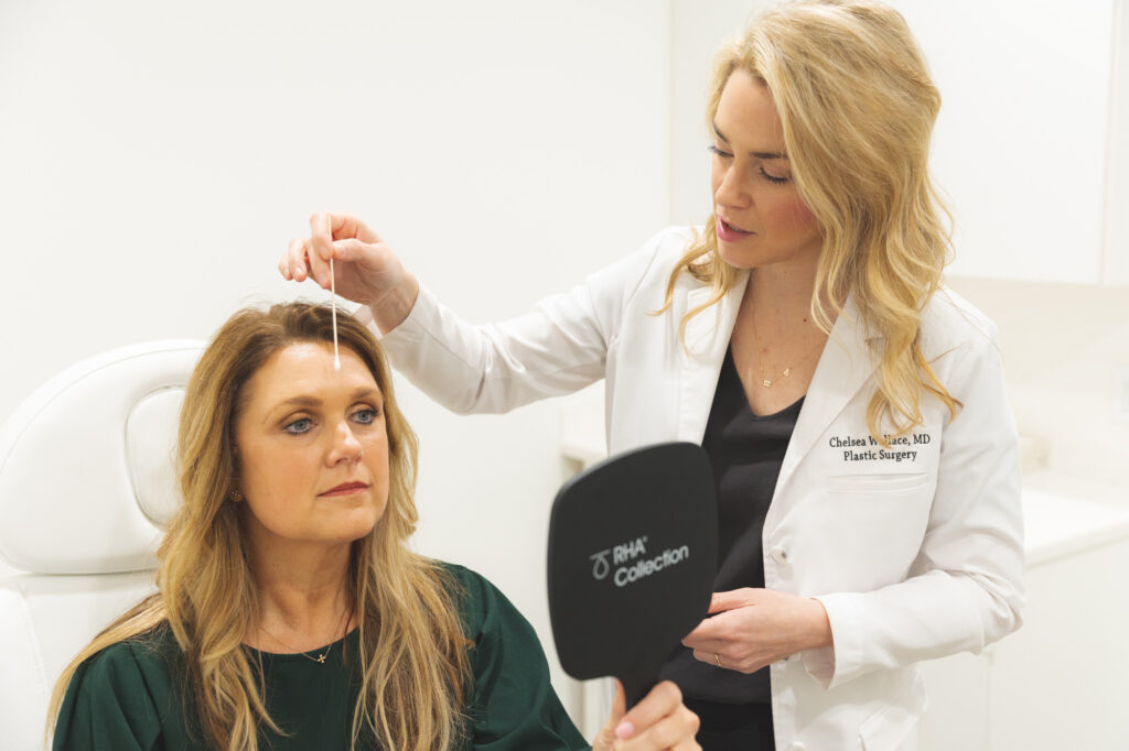
[{"label": "white lower cabinet with countertop, right of the doctor's coat", "polygon": [[1122,751],[1129,739],[1129,500],[1024,491],[1023,627],[922,665],[921,751]]}]

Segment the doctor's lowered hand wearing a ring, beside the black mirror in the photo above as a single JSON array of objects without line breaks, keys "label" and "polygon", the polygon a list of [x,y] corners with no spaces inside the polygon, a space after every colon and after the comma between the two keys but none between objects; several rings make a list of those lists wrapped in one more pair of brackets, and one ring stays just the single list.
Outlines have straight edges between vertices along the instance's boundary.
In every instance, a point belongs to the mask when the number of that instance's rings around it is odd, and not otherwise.
[{"label": "doctor's lowered hand wearing a ring, beside the black mirror", "polygon": [[682,643],[694,659],[752,673],[804,650],[831,645],[831,624],[819,600],[774,590],[715,592],[707,618]]}]

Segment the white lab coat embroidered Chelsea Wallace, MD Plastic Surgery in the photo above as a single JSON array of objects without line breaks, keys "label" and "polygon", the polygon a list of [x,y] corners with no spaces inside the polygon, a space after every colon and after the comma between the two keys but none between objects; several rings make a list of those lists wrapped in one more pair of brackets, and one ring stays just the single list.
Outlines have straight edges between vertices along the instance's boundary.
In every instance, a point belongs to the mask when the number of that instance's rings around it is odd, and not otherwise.
[{"label": "white lab coat embroidered Chelsea Wallace, MD Plastic Surgery", "polygon": [[[692,230],[667,229],[568,294],[472,326],[421,289],[384,337],[394,365],[456,412],[505,412],[606,378],[611,453],[700,443],[747,275],[710,290],[669,272]],[[1019,625],[1018,443],[995,326],[955,294],[924,310],[921,344],[949,394],[893,451],[872,444],[876,364],[848,300],[820,357],[764,521],[769,589],[816,597],[834,646],[771,666],[778,749],[912,750],[926,695],[913,663],[979,652]],[[879,453],[883,451],[883,453]]]}]

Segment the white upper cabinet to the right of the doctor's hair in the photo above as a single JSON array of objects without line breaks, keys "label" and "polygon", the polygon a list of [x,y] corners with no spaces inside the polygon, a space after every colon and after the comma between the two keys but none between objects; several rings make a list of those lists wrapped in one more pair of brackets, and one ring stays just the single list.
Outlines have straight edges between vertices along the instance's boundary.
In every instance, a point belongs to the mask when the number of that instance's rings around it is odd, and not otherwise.
[{"label": "white upper cabinet to the right of the doctor's hair", "polygon": [[[894,0],[942,112],[933,166],[956,220],[952,273],[1100,282],[1129,254],[1109,236],[1114,20],[1120,0]],[[1123,273],[1123,268],[1121,270]]]}]

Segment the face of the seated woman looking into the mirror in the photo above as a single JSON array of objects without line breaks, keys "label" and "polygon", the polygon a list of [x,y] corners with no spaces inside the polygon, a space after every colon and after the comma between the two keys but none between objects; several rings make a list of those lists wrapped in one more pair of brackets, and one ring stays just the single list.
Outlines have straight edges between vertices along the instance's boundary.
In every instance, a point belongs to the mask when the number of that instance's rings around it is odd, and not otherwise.
[{"label": "face of the seated woman looking into the mirror", "polygon": [[365,366],[333,346],[292,344],[247,382],[236,418],[239,489],[255,541],[350,542],[388,501],[384,398]]}]

